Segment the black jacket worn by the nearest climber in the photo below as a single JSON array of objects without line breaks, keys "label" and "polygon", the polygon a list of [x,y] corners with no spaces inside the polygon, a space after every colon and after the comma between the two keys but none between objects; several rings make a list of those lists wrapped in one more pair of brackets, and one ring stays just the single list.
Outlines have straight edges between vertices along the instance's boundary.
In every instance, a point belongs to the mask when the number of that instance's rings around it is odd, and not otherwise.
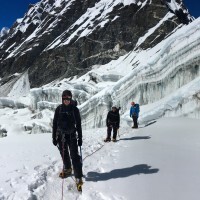
[{"label": "black jacket worn by the nearest climber", "polygon": [[61,104],[56,108],[53,118],[53,139],[56,138],[58,129],[66,132],[76,130],[78,138],[82,139],[81,117],[79,109],[75,105],[70,104],[66,106]]}]

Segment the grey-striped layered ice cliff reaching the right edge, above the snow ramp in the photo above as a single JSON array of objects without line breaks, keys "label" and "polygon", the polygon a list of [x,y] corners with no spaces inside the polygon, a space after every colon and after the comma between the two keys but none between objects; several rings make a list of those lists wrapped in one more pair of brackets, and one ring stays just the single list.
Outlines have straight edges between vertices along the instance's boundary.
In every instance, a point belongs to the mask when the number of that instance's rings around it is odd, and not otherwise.
[{"label": "grey-striped layered ice cliff reaching the right edge, above the snow ramp", "polygon": [[[141,66],[143,71],[133,70],[114,86],[113,101],[119,101],[124,110],[125,102],[130,102],[131,99],[135,99],[140,104],[152,103],[198,77],[199,33],[198,24],[198,27],[193,27],[186,33],[181,32],[168,38],[153,57],[146,55],[149,61]],[[132,63],[135,61],[134,59]]]}]

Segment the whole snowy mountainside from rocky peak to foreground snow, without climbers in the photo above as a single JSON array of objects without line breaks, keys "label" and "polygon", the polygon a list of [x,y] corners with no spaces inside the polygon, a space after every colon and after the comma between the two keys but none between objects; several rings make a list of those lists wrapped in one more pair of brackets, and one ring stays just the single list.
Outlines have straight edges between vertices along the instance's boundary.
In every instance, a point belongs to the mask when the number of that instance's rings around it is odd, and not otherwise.
[{"label": "whole snowy mountainside from rocky peak to foreground snow, without climbers", "polygon": [[[200,18],[182,1],[43,0],[2,40],[0,62],[0,199],[198,198]],[[82,118],[82,195],[58,178],[51,141],[65,89]],[[105,144],[113,105],[118,141]]]}]

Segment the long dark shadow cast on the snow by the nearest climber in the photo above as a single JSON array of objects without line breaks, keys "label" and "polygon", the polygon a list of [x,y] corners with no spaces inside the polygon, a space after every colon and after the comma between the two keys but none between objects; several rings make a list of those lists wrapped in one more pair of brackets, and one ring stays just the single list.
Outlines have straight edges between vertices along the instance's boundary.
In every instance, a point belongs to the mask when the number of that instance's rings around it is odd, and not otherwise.
[{"label": "long dark shadow cast on the snow by the nearest climber", "polygon": [[153,174],[157,173],[159,169],[152,169],[151,166],[146,164],[135,165],[132,167],[122,168],[122,169],[114,169],[110,172],[98,173],[98,172],[88,172],[85,177],[86,181],[106,181],[114,178],[124,178],[136,174]]}]

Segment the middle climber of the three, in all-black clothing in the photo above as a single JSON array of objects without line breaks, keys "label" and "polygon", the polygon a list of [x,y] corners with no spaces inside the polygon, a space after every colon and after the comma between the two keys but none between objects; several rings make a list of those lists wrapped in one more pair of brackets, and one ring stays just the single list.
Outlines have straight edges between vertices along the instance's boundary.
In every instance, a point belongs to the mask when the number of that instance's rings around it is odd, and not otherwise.
[{"label": "middle climber of the three, in all-black clothing", "polygon": [[107,138],[104,140],[105,142],[110,142],[112,129],[113,129],[112,141],[116,142],[117,130],[119,129],[119,124],[120,124],[119,109],[117,109],[116,106],[113,106],[112,110],[108,112],[106,118]]}]

